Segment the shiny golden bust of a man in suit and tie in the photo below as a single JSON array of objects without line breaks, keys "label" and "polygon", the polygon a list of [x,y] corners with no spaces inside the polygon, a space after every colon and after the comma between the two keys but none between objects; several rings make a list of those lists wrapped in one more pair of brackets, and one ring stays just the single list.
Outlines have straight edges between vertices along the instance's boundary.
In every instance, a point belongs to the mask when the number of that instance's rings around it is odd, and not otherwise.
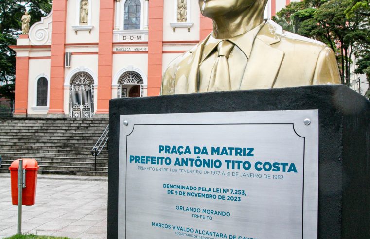
[{"label": "shiny golden bust of a man in suit and tie", "polygon": [[263,19],[267,0],[199,0],[213,32],[172,61],[161,94],[340,84],[334,52]]}]

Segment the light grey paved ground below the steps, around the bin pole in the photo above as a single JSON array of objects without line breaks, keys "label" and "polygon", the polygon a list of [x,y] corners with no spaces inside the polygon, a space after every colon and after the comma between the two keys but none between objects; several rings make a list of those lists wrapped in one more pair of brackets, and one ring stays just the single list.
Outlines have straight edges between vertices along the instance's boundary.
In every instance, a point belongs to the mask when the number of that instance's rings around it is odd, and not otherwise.
[{"label": "light grey paved ground below the steps, around the bin pole", "polygon": [[[36,203],[22,207],[22,233],[104,239],[107,177],[38,175]],[[0,173],[0,238],[17,233],[10,174]]]}]

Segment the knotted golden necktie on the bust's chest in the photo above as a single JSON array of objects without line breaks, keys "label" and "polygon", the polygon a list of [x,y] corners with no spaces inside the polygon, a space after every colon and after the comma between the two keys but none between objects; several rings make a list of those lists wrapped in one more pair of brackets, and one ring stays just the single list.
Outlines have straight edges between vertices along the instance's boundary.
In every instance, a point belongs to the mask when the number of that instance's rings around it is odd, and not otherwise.
[{"label": "knotted golden necktie on the bust's chest", "polygon": [[210,83],[207,91],[231,90],[230,71],[228,58],[234,44],[223,40],[217,46],[217,58],[211,72]]}]

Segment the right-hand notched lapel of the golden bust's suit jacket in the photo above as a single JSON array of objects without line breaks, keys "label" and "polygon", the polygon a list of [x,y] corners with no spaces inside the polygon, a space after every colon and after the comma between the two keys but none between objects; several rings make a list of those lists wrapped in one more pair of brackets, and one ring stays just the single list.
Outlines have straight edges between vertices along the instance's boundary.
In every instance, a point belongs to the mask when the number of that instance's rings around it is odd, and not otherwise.
[{"label": "right-hand notched lapel of the golden bust's suit jacket", "polygon": [[240,90],[273,88],[278,76],[284,52],[270,45],[280,41],[282,28],[267,21],[257,34],[247,62]]}]

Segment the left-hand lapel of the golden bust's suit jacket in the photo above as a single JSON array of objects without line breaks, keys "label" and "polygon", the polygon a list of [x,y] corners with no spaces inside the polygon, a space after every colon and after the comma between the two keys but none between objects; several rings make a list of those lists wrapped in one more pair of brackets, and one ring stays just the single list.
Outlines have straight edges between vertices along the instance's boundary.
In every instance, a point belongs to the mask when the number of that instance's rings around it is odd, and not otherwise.
[{"label": "left-hand lapel of the golden bust's suit jacket", "polygon": [[181,60],[176,69],[175,94],[190,94],[198,92],[198,70],[202,57],[204,44],[209,34],[199,45],[189,51],[188,55]]}]

